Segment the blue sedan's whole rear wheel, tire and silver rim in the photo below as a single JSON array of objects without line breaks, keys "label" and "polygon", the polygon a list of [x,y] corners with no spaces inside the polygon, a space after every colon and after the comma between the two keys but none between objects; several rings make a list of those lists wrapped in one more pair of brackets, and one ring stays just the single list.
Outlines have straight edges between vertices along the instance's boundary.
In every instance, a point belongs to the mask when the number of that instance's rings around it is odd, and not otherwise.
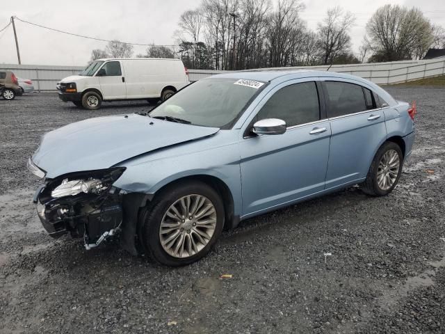
[{"label": "blue sedan's whole rear wheel, tire and silver rim", "polygon": [[403,167],[403,153],[399,145],[384,143],[375,153],[362,191],[371,196],[386,196],[397,185]]}]

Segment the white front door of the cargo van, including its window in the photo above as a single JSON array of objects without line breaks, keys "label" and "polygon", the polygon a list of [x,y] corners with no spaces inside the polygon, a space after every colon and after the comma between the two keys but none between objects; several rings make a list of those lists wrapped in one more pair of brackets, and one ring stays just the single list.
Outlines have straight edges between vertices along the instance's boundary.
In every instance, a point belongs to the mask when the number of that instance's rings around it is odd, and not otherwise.
[{"label": "white front door of the cargo van, including its window", "polygon": [[127,98],[127,88],[120,61],[108,61],[97,72],[100,90],[104,100],[120,100]]}]

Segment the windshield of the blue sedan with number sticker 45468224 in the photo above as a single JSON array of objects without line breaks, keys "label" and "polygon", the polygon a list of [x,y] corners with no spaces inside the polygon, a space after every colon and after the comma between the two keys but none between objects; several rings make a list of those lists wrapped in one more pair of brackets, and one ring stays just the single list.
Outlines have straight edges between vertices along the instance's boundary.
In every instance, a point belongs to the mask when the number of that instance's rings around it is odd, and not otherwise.
[{"label": "windshield of the blue sedan with number sticker 45468224", "polygon": [[228,128],[264,86],[264,82],[244,79],[201,79],[160,104],[149,116]]}]

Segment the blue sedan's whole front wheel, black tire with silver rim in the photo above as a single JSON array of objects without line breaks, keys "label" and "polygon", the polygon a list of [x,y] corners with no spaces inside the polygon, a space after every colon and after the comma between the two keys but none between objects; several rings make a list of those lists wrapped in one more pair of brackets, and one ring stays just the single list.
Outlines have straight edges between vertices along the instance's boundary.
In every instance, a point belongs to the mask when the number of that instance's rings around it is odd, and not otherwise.
[{"label": "blue sedan's whole front wheel, black tire with silver rim", "polygon": [[224,227],[218,193],[199,181],[170,186],[140,214],[142,242],[156,262],[184,266],[207,255]]}]

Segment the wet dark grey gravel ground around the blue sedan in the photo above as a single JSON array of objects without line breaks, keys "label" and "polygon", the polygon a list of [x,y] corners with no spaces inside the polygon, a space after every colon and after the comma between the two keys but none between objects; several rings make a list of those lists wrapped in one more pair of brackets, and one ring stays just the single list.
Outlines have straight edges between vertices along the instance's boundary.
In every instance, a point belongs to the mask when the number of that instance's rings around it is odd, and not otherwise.
[{"label": "wet dark grey gravel ground around the blue sedan", "polygon": [[352,187],[249,219],[179,269],[51,239],[31,202],[44,132],[147,104],[0,101],[0,333],[445,333],[445,89],[387,89],[419,108],[389,196]]}]

